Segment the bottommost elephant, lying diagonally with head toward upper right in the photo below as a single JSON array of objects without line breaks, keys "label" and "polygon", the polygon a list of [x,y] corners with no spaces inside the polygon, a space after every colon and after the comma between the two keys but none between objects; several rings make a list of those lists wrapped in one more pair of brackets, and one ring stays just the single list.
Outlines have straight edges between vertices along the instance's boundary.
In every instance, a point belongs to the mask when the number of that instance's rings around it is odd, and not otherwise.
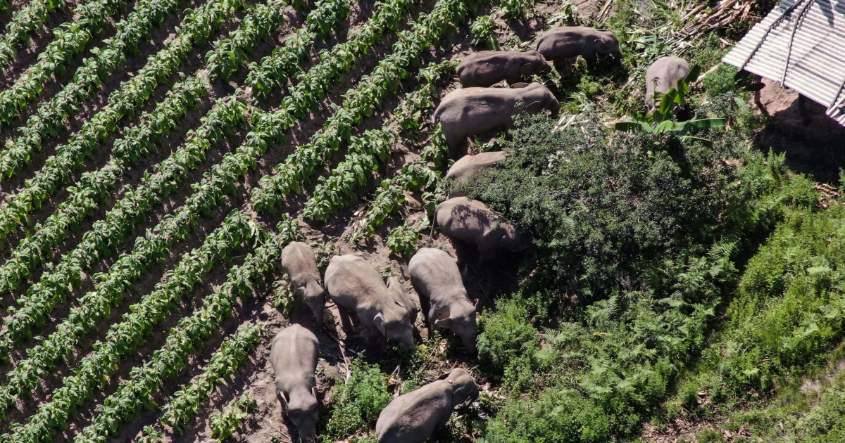
[{"label": "bottommost elephant, lying diagonally with head toward upper right", "polygon": [[461,368],[397,397],[379,414],[375,433],[379,443],[423,443],[439,433],[455,408],[478,398],[472,375]]}]

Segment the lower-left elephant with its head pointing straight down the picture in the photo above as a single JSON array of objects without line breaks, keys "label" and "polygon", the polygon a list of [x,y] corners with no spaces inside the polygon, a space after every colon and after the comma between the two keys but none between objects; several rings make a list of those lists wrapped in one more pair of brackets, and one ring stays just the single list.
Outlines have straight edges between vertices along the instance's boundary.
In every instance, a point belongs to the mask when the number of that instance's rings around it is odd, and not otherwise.
[{"label": "lower-left elephant with its head pointing straight down the picture", "polygon": [[282,411],[297,429],[299,440],[310,442],[317,435],[317,369],[319,342],[300,325],[282,329],[273,338],[270,363],[275,372],[275,395]]}]

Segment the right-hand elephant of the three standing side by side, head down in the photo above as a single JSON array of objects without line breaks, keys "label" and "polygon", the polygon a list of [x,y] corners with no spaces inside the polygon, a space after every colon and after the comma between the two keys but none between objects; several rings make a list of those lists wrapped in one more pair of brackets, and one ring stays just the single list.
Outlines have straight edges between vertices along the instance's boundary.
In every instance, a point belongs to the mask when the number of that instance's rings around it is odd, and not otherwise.
[{"label": "right-hand elephant of the three standing side by side, head down", "polygon": [[445,251],[422,248],[408,263],[411,283],[420,296],[428,337],[434,327],[451,329],[461,338],[464,348],[476,352],[476,311],[478,300],[466,296],[461,271]]}]

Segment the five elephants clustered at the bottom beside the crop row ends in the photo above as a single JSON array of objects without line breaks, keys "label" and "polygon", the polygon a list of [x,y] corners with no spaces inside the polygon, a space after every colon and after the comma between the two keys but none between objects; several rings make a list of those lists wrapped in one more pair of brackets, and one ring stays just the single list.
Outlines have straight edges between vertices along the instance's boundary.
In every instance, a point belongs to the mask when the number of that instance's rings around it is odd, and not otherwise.
[{"label": "five elephants clustered at the bottom beside the crop row ends", "polygon": [[[347,337],[363,328],[369,340],[384,340],[413,347],[417,305],[399,278],[384,283],[379,271],[363,258],[352,255],[332,257],[320,278],[311,246],[292,242],[281,253],[281,265],[291,288],[313,310],[316,322],[323,323],[326,297],[335,302],[341,327]],[[419,294],[423,318],[429,334],[433,328],[450,329],[466,350],[476,350],[477,301],[470,300],[457,264],[444,251],[423,248],[408,265],[414,289]],[[275,372],[275,392],[282,409],[301,441],[316,438],[317,357],[319,340],[313,332],[294,324],[279,332],[270,348]],[[478,397],[472,375],[461,368],[408,392],[384,408],[376,423],[380,442],[428,439],[442,429],[455,407],[466,406]]]}]

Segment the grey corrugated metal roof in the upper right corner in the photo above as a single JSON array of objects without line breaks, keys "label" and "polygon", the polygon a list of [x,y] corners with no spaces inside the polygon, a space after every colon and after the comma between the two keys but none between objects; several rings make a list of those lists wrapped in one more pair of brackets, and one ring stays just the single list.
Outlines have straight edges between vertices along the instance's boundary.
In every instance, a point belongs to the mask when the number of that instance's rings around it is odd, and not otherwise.
[{"label": "grey corrugated metal roof in the upper right corner", "polygon": [[781,82],[845,126],[845,0],[784,0],[722,62]]}]

